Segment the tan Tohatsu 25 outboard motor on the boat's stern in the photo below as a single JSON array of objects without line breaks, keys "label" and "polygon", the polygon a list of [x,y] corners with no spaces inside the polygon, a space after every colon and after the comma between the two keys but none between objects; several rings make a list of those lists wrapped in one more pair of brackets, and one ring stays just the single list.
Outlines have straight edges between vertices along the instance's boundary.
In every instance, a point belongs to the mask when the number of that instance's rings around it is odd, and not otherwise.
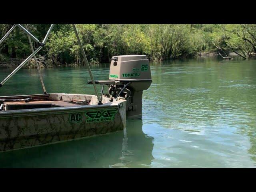
[{"label": "tan Tohatsu 25 outboard motor on the boat's stern", "polygon": [[117,100],[126,99],[126,115],[134,118],[140,118],[142,115],[142,93],[150,87],[151,82],[150,65],[146,55],[113,56],[109,80],[95,81],[96,84],[109,86],[108,95],[103,96]]}]

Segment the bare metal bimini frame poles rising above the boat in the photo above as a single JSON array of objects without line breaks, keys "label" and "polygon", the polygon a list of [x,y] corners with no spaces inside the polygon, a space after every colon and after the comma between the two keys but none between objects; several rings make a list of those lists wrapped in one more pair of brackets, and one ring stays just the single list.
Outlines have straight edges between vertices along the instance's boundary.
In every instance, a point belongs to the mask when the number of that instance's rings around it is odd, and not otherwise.
[{"label": "bare metal bimini frame poles rising above the boat", "polygon": [[[52,28],[54,27],[54,24],[51,24],[48,32],[46,33],[46,36],[44,37],[44,40],[42,42],[40,42],[35,36],[33,36],[29,31],[28,31],[28,27],[27,25],[25,24],[25,27],[23,27],[21,24],[14,24],[12,26],[12,28],[10,28],[10,30],[4,35],[4,37],[0,40],[0,44],[6,39],[6,37],[12,32],[12,30],[14,30],[14,28],[18,26],[21,30],[23,30],[27,36],[28,36],[28,41],[29,41],[29,44],[30,44],[30,48],[31,48],[31,51],[32,51],[32,54],[30,56],[28,56],[28,58],[26,58],[16,69],[14,69],[1,83],[0,83],[0,87],[2,87],[2,85],[8,80],[10,79],[18,70],[20,70],[20,68],[22,68],[22,66],[24,66],[24,64],[26,64],[32,57],[34,57],[34,60],[36,62],[36,68],[38,70],[38,75],[39,75],[39,78],[40,78],[40,81],[41,81],[41,84],[42,84],[42,89],[44,91],[44,94],[46,94],[46,88],[44,86],[44,81],[42,79],[42,75],[40,73],[40,67],[39,67],[39,64],[37,62],[37,59],[36,59],[36,54],[44,47],[46,41],[47,41],[47,38],[48,36],[50,35],[50,32],[52,31]],[[92,76],[92,72],[91,72],[91,69],[90,69],[90,65],[88,63],[88,60],[86,58],[86,54],[84,52],[84,48],[82,46],[82,42],[79,38],[79,35],[78,35],[78,32],[76,30],[76,26],[75,24],[72,24],[73,28],[74,28],[74,32],[76,34],[76,38],[77,38],[77,41],[78,41],[78,44],[80,46],[80,49],[82,51],[82,54],[84,56],[84,62],[87,66],[87,69],[88,69],[88,72],[89,72],[89,75],[90,75],[90,78],[92,80],[92,84],[94,86],[94,90],[96,92],[96,95],[98,97],[98,104],[102,104],[102,98],[99,96],[99,93],[98,93],[98,90],[96,88],[96,84],[94,82],[94,79],[93,79],[93,76]],[[34,50],[33,46],[32,46],[32,42],[31,42],[31,39],[34,40],[35,42],[39,43],[40,46]]]}]

